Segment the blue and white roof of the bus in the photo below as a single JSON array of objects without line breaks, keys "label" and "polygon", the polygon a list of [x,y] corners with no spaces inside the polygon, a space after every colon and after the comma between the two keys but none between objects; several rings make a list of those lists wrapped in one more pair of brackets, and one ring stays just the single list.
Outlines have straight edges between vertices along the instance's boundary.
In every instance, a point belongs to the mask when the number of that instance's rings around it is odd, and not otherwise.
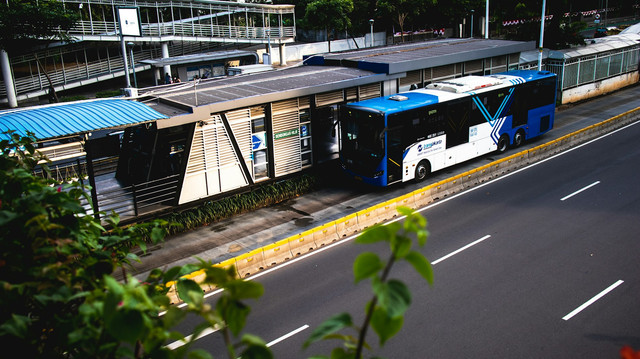
[{"label": "blue and white roof of the bus", "polygon": [[466,76],[456,79],[434,82],[424,89],[401,92],[369,100],[350,103],[350,108],[361,108],[384,113],[395,113],[440,102],[482,93],[496,88],[553,77],[548,71],[516,70],[488,76]]}]

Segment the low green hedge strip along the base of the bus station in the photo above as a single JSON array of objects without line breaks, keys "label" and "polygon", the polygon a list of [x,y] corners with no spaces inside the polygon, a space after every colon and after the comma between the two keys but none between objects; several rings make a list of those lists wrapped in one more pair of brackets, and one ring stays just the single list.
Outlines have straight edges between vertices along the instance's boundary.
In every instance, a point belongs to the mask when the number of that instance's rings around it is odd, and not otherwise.
[{"label": "low green hedge strip along the base of the bus station", "polygon": [[317,177],[303,174],[298,177],[257,187],[217,201],[203,203],[196,208],[173,212],[162,219],[172,225],[168,234],[176,234],[205,226],[233,215],[249,212],[262,207],[281,203],[304,193],[313,191],[318,184]]}]

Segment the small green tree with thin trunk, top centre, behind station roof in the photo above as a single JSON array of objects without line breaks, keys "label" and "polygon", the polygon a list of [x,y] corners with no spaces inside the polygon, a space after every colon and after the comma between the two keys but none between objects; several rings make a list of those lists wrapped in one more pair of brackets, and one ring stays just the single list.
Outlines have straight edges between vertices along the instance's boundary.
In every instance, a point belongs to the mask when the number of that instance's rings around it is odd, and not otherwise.
[{"label": "small green tree with thin trunk, top centre, behind station roof", "polygon": [[312,29],[324,29],[331,52],[331,33],[351,27],[353,0],[314,0],[307,4],[302,22]]}]

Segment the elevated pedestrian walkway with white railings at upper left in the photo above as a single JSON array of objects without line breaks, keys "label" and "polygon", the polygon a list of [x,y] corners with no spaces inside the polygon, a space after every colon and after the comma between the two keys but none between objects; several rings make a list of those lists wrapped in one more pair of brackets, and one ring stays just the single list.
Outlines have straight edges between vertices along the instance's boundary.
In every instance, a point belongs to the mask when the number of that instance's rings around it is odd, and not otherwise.
[{"label": "elevated pedestrian walkway with white railings at upper left", "polygon": [[[124,59],[118,33],[117,8],[140,10],[142,36],[125,37],[133,51],[134,69],[151,69],[143,60],[194,54],[229,46],[264,44],[284,46],[295,39],[293,5],[270,5],[230,1],[113,1],[63,0],[77,8],[81,20],[70,31],[71,44],[9,54],[13,87],[0,81],[0,104],[69,90],[122,77]],[[127,54],[129,55],[129,54]],[[130,61],[131,63],[131,61]],[[165,72],[169,68],[165,69]],[[8,90],[9,89],[9,90]]]}]

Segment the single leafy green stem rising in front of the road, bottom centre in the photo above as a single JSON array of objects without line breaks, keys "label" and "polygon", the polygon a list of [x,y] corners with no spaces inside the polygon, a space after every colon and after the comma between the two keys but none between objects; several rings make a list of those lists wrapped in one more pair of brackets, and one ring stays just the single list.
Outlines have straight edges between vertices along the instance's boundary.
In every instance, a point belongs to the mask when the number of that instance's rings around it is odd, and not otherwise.
[{"label": "single leafy green stem rising in front of the road, bottom centre", "polygon": [[[365,230],[356,239],[356,243],[362,244],[384,241],[391,250],[386,262],[373,252],[364,252],[353,263],[355,282],[370,279],[373,289],[373,298],[367,303],[364,323],[361,327],[354,325],[348,313],[338,314],[322,323],[305,342],[305,348],[319,340],[328,339],[342,340],[343,347],[335,348],[330,357],[315,356],[313,359],[362,358],[363,348],[370,348],[365,342],[369,326],[378,335],[381,346],[398,333],[404,323],[404,313],[411,304],[411,292],[402,281],[389,279],[391,268],[396,262],[409,262],[429,284],[433,284],[431,263],[420,252],[412,250],[411,235],[415,235],[420,247],[425,245],[428,236],[427,221],[409,208],[400,207],[398,212],[406,216],[404,223],[376,225]],[[347,328],[355,331],[356,335],[339,333]]]}]

